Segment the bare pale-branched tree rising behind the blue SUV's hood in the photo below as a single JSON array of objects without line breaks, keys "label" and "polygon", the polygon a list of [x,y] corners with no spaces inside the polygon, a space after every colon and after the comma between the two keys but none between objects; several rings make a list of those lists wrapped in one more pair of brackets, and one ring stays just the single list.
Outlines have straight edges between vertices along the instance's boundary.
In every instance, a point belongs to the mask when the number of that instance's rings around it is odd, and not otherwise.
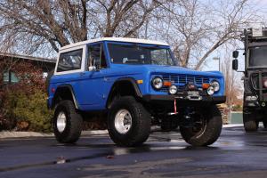
[{"label": "bare pale-branched tree rising behind the blue SUV's hood", "polygon": [[195,69],[218,47],[239,38],[241,28],[260,19],[248,0],[173,1],[154,14],[154,30],[174,46],[181,66],[193,64]]}]

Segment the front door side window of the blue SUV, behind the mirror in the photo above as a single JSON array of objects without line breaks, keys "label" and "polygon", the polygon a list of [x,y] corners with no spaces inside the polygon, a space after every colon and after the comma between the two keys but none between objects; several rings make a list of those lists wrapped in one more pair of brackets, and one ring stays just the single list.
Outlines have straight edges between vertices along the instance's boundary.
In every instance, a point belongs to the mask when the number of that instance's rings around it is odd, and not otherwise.
[{"label": "front door side window of the blue SUV, behind the mirror", "polygon": [[96,69],[107,68],[107,62],[102,44],[93,44],[88,46],[88,67]]}]

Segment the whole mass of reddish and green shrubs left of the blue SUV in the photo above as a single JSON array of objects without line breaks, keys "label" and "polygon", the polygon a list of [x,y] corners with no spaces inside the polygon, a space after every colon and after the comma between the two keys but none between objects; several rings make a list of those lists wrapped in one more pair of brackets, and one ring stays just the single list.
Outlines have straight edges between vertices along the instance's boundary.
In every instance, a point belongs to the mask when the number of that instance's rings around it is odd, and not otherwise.
[{"label": "whole mass of reddish and green shrubs left of the blue SUV", "polygon": [[[15,84],[4,83],[4,72],[11,70],[19,78]],[[52,112],[46,109],[43,71],[31,62],[0,61],[0,131],[49,132]]]}]

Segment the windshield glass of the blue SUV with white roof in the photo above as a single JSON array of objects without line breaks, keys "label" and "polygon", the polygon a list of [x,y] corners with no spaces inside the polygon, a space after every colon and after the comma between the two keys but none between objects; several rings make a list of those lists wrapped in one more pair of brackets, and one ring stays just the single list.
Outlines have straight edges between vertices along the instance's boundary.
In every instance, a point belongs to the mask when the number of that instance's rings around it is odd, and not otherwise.
[{"label": "windshield glass of the blue SUV with white roof", "polygon": [[170,49],[166,46],[145,46],[142,44],[108,44],[108,46],[112,63],[174,66]]}]

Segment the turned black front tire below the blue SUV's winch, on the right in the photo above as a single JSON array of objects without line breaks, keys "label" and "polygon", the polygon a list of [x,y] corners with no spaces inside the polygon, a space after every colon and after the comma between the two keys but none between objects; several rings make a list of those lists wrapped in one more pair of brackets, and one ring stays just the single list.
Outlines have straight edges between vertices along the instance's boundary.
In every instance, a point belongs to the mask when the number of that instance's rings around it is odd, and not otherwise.
[{"label": "turned black front tire below the blue SUV's winch, on the right", "polygon": [[193,125],[180,126],[180,132],[185,142],[192,146],[207,146],[216,142],[223,126],[220,110],[212,105],[196,110]]}]

